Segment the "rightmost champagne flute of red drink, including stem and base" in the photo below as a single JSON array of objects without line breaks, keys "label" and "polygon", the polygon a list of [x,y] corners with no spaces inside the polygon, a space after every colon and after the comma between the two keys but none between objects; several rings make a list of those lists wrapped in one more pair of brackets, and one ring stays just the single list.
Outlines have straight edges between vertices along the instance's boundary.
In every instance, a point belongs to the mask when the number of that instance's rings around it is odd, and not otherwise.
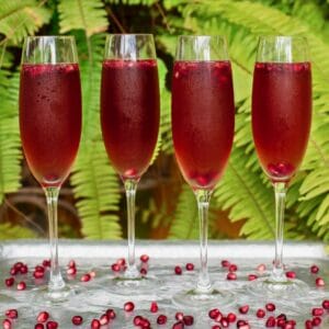
[{"label": "rightmost champagne flute of red drink, including stem and base", "polygon": [[250,286],[253,293],[303,294],[307,287],[285,276],[283,234],[286,191],[306,151],[310,121],[311,68],[306,39],[260,37],[253,71],[252,134],[260,164],[274,188],[276,230],[272,273]]}]

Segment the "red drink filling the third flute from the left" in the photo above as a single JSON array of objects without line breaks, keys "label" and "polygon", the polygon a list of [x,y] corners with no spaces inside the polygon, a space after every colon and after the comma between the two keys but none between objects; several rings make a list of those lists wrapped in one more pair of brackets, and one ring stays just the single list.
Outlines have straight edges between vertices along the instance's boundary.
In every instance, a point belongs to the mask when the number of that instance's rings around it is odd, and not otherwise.
[{"label": "red drink filling the third flute from the left", "polygon": [[226,167],[235,104],[229,61],[175,61],[172,137],[177,160],[193,189],[213,189]]}]

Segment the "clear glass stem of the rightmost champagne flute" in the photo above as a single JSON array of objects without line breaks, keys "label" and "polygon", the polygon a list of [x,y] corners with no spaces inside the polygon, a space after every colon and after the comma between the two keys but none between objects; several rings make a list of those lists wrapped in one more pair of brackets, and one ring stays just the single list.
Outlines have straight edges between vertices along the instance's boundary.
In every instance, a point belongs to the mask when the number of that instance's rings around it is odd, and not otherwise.
[{"label": "clear glass stem of the rightmost champagne flute", "polygon": [[286,281],[283,265],[283,234],[284,234],[284,208],[286,197],[286,183],[275,182],[275,259],[272,271],[274,281]]}]

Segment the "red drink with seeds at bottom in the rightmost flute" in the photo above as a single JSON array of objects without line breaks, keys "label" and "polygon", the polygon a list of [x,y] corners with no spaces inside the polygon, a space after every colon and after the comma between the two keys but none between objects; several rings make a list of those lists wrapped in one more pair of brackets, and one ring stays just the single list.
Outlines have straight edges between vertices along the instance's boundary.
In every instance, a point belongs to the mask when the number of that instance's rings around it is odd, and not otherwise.
[{"label": "red drink with seeds at bottom in the rightmost flute", "polygon": [[288,181],[299,167],[311,120],[309,63],[257,63],[252,133],[258,157],[272,181]]}]

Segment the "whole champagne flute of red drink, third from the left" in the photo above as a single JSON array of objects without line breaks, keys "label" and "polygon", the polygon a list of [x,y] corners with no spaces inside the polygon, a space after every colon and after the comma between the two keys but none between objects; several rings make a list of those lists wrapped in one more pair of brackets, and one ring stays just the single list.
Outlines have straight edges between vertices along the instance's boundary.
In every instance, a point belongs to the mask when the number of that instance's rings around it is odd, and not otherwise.
[{"label": "whole champagne flute of red drink, third from the left", "polygon": [[196,287],[173,303],[200,307],[234,302],[215,290],[207,270],[207,217],[234,139],[231,67],[223,36],[180,36],[172,77],[172,138],[179,168],[193,190],[200,219],[201,270]]}]

